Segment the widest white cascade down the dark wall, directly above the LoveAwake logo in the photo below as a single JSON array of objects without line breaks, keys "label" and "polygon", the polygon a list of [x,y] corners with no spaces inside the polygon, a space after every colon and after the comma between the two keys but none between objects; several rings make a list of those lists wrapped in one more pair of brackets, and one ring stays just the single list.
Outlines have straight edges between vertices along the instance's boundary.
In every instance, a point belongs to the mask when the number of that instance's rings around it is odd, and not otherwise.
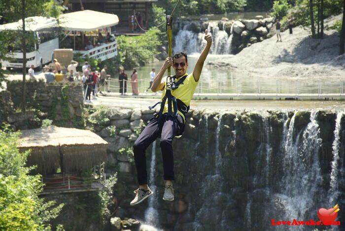
[{"label": "widest white cascade down the dark wall, directly above the LoveAwake logo", "polygon": [[[311,112],[311,121],[301,131],[297,131],[294,125],[296,115],[295,112],[290,120],[285,139],[281,191],[276,196],[283,207],[284,219],[306,221],[315,217],[315,210],[311,206],[321,194],[322,177],[318,159],[321,139],[317,112]],[[303,227],[299,230],[303,230]]]}]

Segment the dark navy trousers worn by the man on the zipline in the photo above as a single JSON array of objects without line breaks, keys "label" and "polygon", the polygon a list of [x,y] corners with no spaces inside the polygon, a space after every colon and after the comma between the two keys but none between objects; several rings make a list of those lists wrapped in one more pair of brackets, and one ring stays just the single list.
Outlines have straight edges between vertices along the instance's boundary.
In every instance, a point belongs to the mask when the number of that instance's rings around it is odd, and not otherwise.
[{"label": "dark navy trousers worn by the man on the zipline", "polygon": [[134,143],[134,160],[136,162],[139,185],[147,184],[146,156],[147,147],[161,134],[161,150],[163,155],[164,180],[173,181],[173,138],[183,130],[183,118],[162,116],[161,122],[152,119]]}]

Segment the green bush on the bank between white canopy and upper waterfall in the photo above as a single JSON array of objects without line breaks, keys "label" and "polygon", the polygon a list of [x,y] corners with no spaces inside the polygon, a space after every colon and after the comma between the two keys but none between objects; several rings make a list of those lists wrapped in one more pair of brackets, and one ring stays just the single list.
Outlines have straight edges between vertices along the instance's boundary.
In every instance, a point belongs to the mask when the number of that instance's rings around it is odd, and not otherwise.
[{"label": "green bush on the bank between white canopy and upper waterfall", "polygon": [[152,60],[154,54],[157,53],[157,46],[161,45],[158,38],[159,30],[145,32],[141,36],[119,36],[118,55],[116,56],[116,63],[119,67],[128,70],[134,67],[143,66],[148,61]]}]

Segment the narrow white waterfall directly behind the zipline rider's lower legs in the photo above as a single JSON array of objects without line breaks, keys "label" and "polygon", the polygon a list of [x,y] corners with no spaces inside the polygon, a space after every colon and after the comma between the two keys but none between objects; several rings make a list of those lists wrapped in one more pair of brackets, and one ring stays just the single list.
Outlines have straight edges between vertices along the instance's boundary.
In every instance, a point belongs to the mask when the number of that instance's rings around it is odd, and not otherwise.
[{"label": "narrow white waterfall directly behind the zipline rider's lower legs", "polygon": [[158,211],[156,206],[158,205],[158,191],[155,185],[155,171],[156,171],[156,141],[152,143],[151,152],[151,163],[150,163],[150,189],[154,192],[152,196],[148,197],[148,208],[145,211],[145,222],[150,225],[157,227],[159,225],[158,221]]}]

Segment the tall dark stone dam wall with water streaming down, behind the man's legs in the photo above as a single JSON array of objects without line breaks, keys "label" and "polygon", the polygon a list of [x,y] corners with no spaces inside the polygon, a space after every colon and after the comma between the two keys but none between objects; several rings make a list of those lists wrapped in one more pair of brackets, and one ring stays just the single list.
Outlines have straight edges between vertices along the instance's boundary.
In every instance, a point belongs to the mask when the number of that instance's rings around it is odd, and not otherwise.
[{"label": "tall dark stone dam wall with water streaming down, behind the man's legs", "polygon": [[[118,207],[114,217],[131,217],[145,223],[148,201],[135,207],[129,205],[135,195],[132,192],[138,187],[131,148],[138,130],[153,113],[150,110],[111,109],[105,128],[98,128],[98,134],[110,143],[106,171],[108,174],[118,172],[114,187]],[[306,111],[221,114],[190,111],[183,136],[173,141],[176,178],[173,202],[162,200],[164,180],[159,139],[156,143],[154,182],[158,200],[154,202],[154,209],[158,214],[158,228],[166,231],[272,230],[270,219],[293,216],[284,207],[287,206],[285,196],[296,201],[301,197],[304,200],[312,198],[312,207],[326,203],[320,200],[328,200],[331,187],[337,116],[337,113],[323,111],[316,114]],[[338,122],[341,127],[339,154],[344,157],[345,116]],[[109,137],[106,128],[111,125],[117,128],[114,137]],[[315,142],[320,143],[315,145]],[[127,151],[120,152],[121,149]],[[146,151],[148,175],[151,152],[152,145]],[[339,174],[339,188],[343,189],[344,174]],[[292,193],[298,192],[301,188],[297,184],[299,175],[308,176],[312,179],[310,184],[317,184],[319,188],[312,190],[312,185],[307,183],[303,186],[306,192],[302,191],[296,198],[290,195],[291,189],[285,188],[295,187]],[[282,187],[284,179],[296,181],[296,184]],[[303,211],[305,219],[317,215],[316,210]]]}]

